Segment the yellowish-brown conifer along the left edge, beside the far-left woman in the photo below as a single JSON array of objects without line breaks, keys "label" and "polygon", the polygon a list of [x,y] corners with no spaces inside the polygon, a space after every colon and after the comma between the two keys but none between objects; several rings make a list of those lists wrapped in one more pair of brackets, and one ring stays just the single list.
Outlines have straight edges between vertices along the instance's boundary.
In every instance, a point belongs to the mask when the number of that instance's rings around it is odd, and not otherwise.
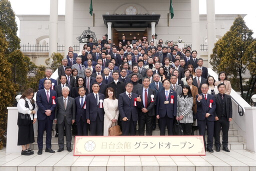
[{"label": "yellowish-brown conifer along the left edge, beside the far-left woman", "polygon": [[15,99],[17,84],[14,84],[11,77],[10,63],[4,56],[8,43],[0,29],[0,149],[5,145],[4,134],[7,127],[7,107],[12,106]]}]

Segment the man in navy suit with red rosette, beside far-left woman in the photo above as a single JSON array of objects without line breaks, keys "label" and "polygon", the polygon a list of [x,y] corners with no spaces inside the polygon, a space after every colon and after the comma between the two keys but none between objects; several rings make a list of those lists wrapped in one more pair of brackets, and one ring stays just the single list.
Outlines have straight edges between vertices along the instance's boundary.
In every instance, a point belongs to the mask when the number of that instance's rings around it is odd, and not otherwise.
[{"label": "man in navy suit with red rosette, beside far-left woman", "polygon": [[46,130],[46,148],[45,152],[55,152],[51,149],[51,129],[52,121],[54,119],[55,107],[57,103],[57,93],[51,90],[51,80],[45,79],[43,82],[44,88],[40,89],[36,93],[37,110],[37,122],[38,122],[38,134],[37,134],[37,154],[42,154],[42,139],[43,131]]}]

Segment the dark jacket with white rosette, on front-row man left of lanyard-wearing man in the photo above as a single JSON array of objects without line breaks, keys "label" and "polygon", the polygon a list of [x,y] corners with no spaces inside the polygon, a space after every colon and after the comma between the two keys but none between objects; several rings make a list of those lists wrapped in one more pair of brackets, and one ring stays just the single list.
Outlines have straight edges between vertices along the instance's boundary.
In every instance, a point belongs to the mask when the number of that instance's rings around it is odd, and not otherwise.
[{"label": "dark jacket with white rosette, on front-row man left of lanyard-wearing man", "polygon": [[[140,98],[141,98],[141,101],[140,101],[141,107],[138,110],[138,114],[143,115],[143,114],[145,114],[141,111],[141,109],[145,107],[144,104],[143,104],[143,95],[144,95],[143,87],[137,89],[136,94],[140,95]],[[153,102],[151,102],[151,95],[153,95]],[[155,115],[155,109],[154,109],[155,102],[156,102],[156,92],[155,92],[154,89],[148,88],[147,107],[146,107],[146,109],[148,110],[147,111],[148,116],[154,116]]]}]

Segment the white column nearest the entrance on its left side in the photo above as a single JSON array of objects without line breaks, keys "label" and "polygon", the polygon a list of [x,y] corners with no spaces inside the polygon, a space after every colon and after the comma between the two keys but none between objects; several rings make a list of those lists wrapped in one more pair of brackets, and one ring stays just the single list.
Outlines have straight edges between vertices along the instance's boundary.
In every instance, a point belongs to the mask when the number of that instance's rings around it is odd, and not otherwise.
[{"label": "white column nearest the entrance on its left side", "polygon": [[73,45],[73,0],[66,0],[65,7],[65,54],[67,55],[68,47]]}]

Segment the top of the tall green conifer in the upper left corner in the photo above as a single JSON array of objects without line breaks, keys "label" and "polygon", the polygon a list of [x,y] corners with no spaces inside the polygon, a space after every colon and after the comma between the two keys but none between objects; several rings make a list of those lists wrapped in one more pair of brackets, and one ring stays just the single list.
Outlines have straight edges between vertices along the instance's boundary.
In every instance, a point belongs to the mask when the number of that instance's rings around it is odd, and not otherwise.
[{"label": "top of the tall green conifer in the upper left corner", "polygon": [[20,39],[17,36],[17,23],[15,21],[15,13],[11,8],[8,0],[0,0],[0,27],[6,40],[9,42],[6,53],[19,48]]}]

